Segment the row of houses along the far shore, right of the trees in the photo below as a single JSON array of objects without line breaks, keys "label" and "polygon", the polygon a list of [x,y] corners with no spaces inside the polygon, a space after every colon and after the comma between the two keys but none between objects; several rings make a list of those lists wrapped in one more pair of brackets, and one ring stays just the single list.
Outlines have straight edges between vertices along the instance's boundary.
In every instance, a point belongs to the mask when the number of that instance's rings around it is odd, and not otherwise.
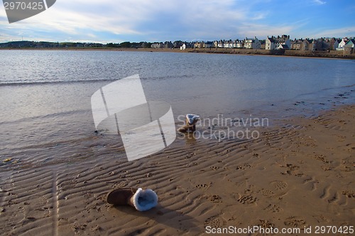
[{"label": "row of houses along the far shore, right of the trees", "polygon": [[[266,40],[258,38],[245,38],[244,40],[220,40],[220,41],[200,41],[193,43],[183,43],[181,50],[186,48],[247,48],[266,50],[344,50],[344,48],[354,48],[354,38],[319,38],[319,39],[294,39],[290,36],[267,36]],[[174,45],[173,45],[174,46]],[[171,43],[153,43],[152,48],[172,48]],[[178,47],[175,47],[178,48]]]}]

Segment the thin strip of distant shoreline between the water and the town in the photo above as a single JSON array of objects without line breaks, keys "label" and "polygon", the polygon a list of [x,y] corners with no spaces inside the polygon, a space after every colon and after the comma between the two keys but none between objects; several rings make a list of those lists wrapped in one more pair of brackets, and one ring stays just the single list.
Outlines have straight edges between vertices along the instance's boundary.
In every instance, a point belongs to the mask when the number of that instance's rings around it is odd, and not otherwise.
[{"label": "thin strip of distant shoreline between the water and the town", "polygon": [[214,53],[214,54],[235,54],[235,55],[276,55],[296,56],[303,58],[334,58],[334,59],[355,59],[355,53],[344,53],[337,50],[265,50],[265,49],[244,49],[244,48],[0,48],[0,50],[101,50],[101,51],[129,51],[129,52],[169,52],[169,53]]}]

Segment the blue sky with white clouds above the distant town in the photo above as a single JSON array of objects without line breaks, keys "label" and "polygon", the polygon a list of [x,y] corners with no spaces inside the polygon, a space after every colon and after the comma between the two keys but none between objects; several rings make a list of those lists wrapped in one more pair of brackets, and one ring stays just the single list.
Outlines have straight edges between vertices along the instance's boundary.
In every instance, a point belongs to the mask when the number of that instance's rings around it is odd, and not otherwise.
[{"label": "blue sky with white clouds above the distant town", "polygon": [[355,37],[354,16],[354,0],[57,0],[15,23],[0,6],[0,43],[343,38]]}]

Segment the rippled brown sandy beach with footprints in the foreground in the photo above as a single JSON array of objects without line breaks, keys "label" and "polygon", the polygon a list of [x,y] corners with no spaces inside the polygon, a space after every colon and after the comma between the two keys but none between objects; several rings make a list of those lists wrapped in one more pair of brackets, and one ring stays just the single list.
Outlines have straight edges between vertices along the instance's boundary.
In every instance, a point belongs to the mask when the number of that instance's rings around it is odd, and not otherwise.
[{"label": "rippled brown sandy beach with footprints in the foreground", "polygon": [[[204,235],[226,227],[281,230],[355,222],[355,106],[258,128],[258,139],[177,139],[139,159],[102,155],[26,166],[3,160],[2,235]],[[93,136],[92,146],[100,142]],[[80,155],[80,154],[78,154]],[[151,188],[158,206],[105,202],[114,188]],[[354,226],[353,226],[354,227]],[[235,229],[236,229],[235,228]],[[241,235],[261,235],[260,232]],[[334,235],[342,235],[337,232]]]}]

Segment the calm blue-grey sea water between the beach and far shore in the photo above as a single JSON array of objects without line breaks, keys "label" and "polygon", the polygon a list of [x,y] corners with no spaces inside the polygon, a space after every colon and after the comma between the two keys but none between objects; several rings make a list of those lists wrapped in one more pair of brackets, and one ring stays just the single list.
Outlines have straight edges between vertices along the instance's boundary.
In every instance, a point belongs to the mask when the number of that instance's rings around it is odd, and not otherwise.
[{"label": "calm blue-grey sea water between the beach and far shore", "polygon": [[279,119],[355,102],[354,60],[100,50],[0,50],[0,58],[1,161],[76,160],[106,145],[90,98],[136,74],[146,100],[171,104],[177,122],[189,113]]}]

